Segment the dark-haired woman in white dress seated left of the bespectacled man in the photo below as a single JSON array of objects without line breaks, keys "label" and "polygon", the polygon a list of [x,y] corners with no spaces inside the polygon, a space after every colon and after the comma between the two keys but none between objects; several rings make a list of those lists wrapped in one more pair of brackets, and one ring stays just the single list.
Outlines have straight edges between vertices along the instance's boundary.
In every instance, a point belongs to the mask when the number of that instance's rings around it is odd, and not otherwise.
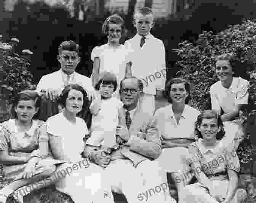
[{"label": "dark-haired woman in white dress seated left of the bespectacled man", "polygon": [[82,159],[83,138],[89,132],[85,121],[76,115],[88,108],[85,90],[77,84],[68,85],[58,102],[64,110],[47,120],[46,132],[53,157],[67,163],[59,165],[41,187],[55,183],[56,189],[70,195],[75,203],[85,202],[85,198],[90,203],[114,203],[110,186],[101,176],[103,169]]}]

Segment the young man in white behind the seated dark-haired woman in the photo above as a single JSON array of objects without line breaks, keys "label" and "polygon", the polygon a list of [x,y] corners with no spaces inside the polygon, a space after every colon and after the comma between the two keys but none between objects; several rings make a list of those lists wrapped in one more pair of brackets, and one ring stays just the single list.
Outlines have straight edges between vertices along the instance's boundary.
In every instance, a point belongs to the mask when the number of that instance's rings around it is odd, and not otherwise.
[{"label": "young man in white behind the seated dark-haired woman", "polygon": [[58,52],[57,60],[61,69],[42,76],[37,84],[36,91],[39,95],[42,95],[39,119],[44,121],[58,113],[59,108],[56,98],[67,85],[79,84],[86,90],[89,99],[92,99],[95,95],[91,79],[75,72],[80,62],[79,45],[74,41],[64,41],[59,45]]}]

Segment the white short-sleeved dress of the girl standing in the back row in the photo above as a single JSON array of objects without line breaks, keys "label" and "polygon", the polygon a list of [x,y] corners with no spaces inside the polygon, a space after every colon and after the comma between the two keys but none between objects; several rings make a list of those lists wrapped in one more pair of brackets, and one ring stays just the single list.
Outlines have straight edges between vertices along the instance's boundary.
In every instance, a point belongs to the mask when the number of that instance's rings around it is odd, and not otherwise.
[{"label": "white short-sleeved dress of the girl standing in the back row", "polygon": [[100,66],[99,73],[107,71],[114,73],[117,76],[117,90],[114,92],[114,97],[119,98],[119,85],[123,78],[125,78],[126,63],[131,61],[131,51],[120,44],[118,48],[112,48],[109,44],[96,46],[91,52],[91,60],[94,61],[95,57],[99,57]]}]

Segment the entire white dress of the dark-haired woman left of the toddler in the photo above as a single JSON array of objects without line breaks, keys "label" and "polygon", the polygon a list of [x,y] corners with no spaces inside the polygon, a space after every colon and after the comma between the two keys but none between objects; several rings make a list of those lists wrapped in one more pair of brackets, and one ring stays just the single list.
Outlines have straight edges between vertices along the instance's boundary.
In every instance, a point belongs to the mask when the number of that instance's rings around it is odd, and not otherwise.
[{"label": "entire white dress of the dark-haired woman left of the toddler", "polygon": [[[76,123],[69,122],[63,113],[56,114],[47,120],[47,132],[50,136],[61,137],[59,147],[72,163],[82,162],[81,153],[85,143],[83,138],[88,135],[86,123],[80,117],[76,117]],[[88,160],[89,166],[79,170],[72,170],[69,176],[56,183],[56,189],[64,192],[74,200],[75,203],[113,202],[110,186],[101,176],[103,169]],[[71,167],[72,168],[72,167]],[[106,186],[106,187],[105,187]],[[104,192],[109,195],[104,198]]]}]

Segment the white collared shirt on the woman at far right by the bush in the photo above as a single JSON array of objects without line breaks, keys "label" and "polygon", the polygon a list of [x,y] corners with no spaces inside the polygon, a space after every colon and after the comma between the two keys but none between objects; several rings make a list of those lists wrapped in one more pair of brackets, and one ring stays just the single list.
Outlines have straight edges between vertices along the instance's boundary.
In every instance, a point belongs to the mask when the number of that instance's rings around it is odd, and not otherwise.
[{"label": "white collared shirt on the woman at far right by the bush", "polygon": [[230,87],[227,89],[222,86],[221,81],[214,83],[210,88],[211,108],[225,113],[234,110],[235,105],[248,104],[249,82],[243,78],[233,77]]}]

